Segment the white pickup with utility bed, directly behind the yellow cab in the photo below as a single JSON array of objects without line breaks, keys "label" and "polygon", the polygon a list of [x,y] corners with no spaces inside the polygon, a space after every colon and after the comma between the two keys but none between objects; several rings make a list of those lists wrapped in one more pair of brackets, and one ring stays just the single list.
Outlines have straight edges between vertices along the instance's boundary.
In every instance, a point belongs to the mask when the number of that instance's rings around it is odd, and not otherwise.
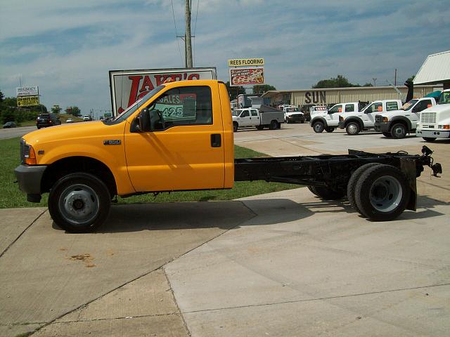
[{"label": "white pickup with utility bed, directly behind the yellow cab", "polygon": [[258,130],[267,127],[271,130],[281,128],[284,122],[284,112],[259,112],[259,110],[249,107],[245,109],[233,110],[233,131],[238,128],[256,126]]}]

